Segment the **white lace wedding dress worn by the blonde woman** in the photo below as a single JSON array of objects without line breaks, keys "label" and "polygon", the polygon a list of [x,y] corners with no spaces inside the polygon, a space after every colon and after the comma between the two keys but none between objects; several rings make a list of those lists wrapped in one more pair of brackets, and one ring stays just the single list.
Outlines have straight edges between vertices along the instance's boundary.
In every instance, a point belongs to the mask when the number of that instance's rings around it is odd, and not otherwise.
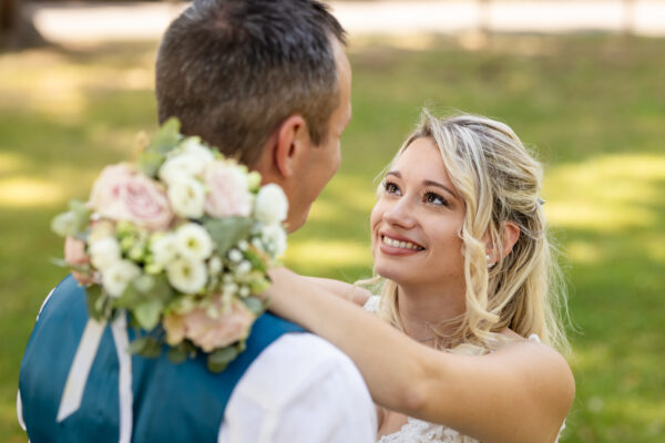
[{"label": "white lace wedding dress worn by the blonde woman", "polygon": [[[367,303],[365,303],[365,310],[376,313],[379,310],[379,296],[374,296]],[[536,334],[529,337],[529,340],[540,342]],[[565,423],[561,426],[561,431],[565,427]],[[561,431],[559,435],[561,435]],[[556,439],[559,441],[559,437]],[[408,418],[407,424],[405,424],[399,431],[383,435],[378,443],[468,443],[478,442],[471,437],[464,436],[456,430],[448,427],[442,424],[434,424]]]}]

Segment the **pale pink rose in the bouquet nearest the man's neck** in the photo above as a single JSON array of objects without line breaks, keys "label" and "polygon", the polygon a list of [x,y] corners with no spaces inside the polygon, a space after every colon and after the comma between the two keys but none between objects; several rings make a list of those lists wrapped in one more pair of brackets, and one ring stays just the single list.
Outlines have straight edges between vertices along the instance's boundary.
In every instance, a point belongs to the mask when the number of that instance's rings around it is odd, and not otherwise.
[{"label": "pale pink rose in the bouquet nearest the man's neck", "polygon": [[237,166],[217,161],[205,172],[208,193],[205,212],[213,217],[246,217],[252,213],[247,175]]}]

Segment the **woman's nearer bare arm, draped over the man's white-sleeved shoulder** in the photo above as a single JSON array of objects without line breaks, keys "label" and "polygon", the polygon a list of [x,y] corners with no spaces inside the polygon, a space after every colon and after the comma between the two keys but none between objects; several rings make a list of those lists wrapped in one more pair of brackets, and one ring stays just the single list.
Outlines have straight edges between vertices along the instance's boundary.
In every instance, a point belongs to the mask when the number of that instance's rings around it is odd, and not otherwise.
[{"label": "woman's nearer bare arm, draped over the man's white-sleeved shoulder", "polygon": [[481,357],[437,351],[286,269],[270,276],[270,310],[347,353],[377,403],[488,443],[555,440],[574,381],[551,348],[523,341]]}]

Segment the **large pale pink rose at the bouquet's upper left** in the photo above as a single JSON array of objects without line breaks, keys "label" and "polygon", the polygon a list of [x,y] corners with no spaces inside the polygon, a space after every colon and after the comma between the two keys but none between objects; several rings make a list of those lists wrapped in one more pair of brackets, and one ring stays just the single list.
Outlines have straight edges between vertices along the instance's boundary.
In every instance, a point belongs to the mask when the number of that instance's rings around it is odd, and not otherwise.
[{"label": "large pale pink rose at the bouquet's upper left", "polygon": [[164,229],[173,219],[164,189],[125,164],[102,171],[92,187],[89,205],[102,217],[132,222],[149,229]]}]

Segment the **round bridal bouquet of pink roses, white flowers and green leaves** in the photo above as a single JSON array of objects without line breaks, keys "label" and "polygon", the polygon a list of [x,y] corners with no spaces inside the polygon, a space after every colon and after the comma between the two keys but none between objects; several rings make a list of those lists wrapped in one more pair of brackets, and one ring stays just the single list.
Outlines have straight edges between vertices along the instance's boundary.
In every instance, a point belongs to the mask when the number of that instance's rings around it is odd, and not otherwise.
[{"label": "round bridal bouquet of pink roses, white flowers and green leaves", "polygon": [[72,200],[52,229],[86,286],[95,320],[129,312],[143,330],[132,352],[181,362],[207,354],[223,371],[266,309],[258,295],[286,249],[287,200],[277,185],[171,120],[134,164],[105,167],[86,203]]}]

